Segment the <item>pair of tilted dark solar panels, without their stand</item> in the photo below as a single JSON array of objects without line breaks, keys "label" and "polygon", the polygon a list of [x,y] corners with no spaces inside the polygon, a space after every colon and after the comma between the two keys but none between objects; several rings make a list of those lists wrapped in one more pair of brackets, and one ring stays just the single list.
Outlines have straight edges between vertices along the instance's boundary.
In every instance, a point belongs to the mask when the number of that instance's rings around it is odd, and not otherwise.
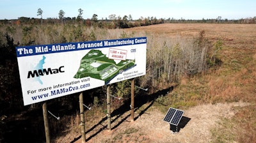
[{"label": "pair of tilted dark solar panels, without their stand", "polygon": [[178,126],[180,119],[183,115],[184,111],[179,110],[179,109],[173,109],[170,107],[166,115],[164,116],[164,121],[173,124],[175,126]]}]

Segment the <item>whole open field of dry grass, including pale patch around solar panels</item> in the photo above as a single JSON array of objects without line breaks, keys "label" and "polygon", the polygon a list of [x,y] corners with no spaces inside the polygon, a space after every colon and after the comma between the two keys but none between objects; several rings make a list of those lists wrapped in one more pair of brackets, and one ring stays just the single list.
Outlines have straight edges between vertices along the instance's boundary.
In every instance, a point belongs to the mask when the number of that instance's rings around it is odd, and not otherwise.
[{"label": "whole open field of dry grass, including pale patch around solar panels", "polygon": [[[256,142],[255,24],[157,24],[125,32],[168,40],[191,38],[203,30],[210,41],[223,42],[219,66],[182,77],[173,91],[136,107],[134,122],[129,121],[127,111],[112,117],[115,128],[111,132],[98,124],[86,134],[88,142]],[[169,107],[184,110],[188,119],[178,134],[171,134],[170,126],[163,121]],[[87,119],[87,124],[93,126],[104,116],[95,114],[93,119]],[[70,132],[55,141],[70,142],[77,137],[79,134]]]}]

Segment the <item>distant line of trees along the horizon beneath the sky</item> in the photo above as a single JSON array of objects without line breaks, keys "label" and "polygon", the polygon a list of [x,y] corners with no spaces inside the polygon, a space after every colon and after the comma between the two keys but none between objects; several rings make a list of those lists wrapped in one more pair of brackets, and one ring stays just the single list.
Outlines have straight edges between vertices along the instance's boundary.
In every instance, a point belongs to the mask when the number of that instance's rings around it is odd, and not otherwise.
[{"label": "distant line of trees along the horizon beneath the sky", "polygon": [[12,20],[0,20],[1,24],[84,24],[86,26],[98,26],[106,27],[108,29],[116,28],[130,28],[138,26],[149,26],[152,24],[163,24],[163,23],[209,23],[209,24],[256,24],[256,17],[248,17],[245,19],[222,19],[218,16],[216,19],[157,19],[156,17],[140,17],[137,20],[132,19],[132,15],[120,15],[115,14],[109,15],[105,19],[99,19],[97,14],[93,14],[91,19],[83,19],[83,9],[78,9],[77,17],[65,17],[65,11],[60,10],[58,13],[58,18],[47,18],[43,19],[44,11],[38,8],[37,16],[40,18],[30,18],[30,17],[19,17],[18,19]]}]

